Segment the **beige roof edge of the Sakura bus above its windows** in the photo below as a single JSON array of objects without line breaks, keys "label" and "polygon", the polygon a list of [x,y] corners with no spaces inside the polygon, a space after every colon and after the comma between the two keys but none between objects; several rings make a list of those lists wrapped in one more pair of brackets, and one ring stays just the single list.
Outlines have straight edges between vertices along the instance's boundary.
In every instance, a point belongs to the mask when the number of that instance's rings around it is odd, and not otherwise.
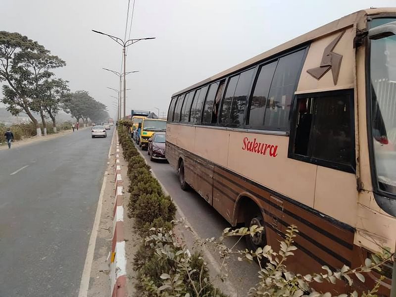
[{"label": "beige roof edge of the Sakura bus above its windows", "polygon": [[231,67],[225,71],[222,71],[214,76],[211,76],[203,81],[200,81],[199,83],[194,84],[186,89],[183,89],[183,90],[173,94],[172,97],[183,94],[189,90],[198,88],[199,86],[207,84],[208,82],[218,80],[224,76],[232,74],[233,72],[237,72],[243,68],[247,68],[250,65],[253,65],[261,60],[270,58],[271,56],[281,53],[282,51],[285,51],[287,49],[295,48],[295,47],[303,45],[309,41],[317,39],[321,36],[325,36],[332,32],[352,26],[356,22],[361,22],[362,20],[364,20],[365,19],[364,17],[367,15],[375,15],[375,14],[383,13],[383,12],[396,13],[396,7],[370,8],[370,9],[359,10],[359,11],[353,12],[351,14],[348,14],[340,19],[337,19],[331,23],[328,23],[328,24],[323,25],[315,30],[305,33],[305,34],[303,34],[295,39],[292,39],[284,44],[281,44],[273,49],[264,51],[263,53],[256,55],[255,57],[252,57],[252,58],[246,60],[245,62],[242,62],[236,66],[233,66],[233,67]]}]

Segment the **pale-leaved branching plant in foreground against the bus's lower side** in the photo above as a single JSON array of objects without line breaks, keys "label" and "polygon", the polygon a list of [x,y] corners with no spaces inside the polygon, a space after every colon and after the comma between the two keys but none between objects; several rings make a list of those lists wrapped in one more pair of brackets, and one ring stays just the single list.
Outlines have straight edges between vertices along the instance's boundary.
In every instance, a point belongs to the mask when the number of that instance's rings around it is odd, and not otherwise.
[{"label": "pale-leaved branching plant in foreground against the bus's lower side", "polygon": [[[293,296],[293,297],[332,297],[329,292],[319,293],[312,288],[312,283],[323,283],[328,282],[336,284],[337,280],[346,281],[349,286],[352,286],[353,280],[352,275],[356,276],[361,282],[365,281],[362,273],[370,272],[372,270],[381,271],[381,265],[393,257],[390,253],[389,248],[383,248],[381,253],[373,255],[372,259],[366,259],[365,265],[351,269],[344,265],[340,270],[332,271],[327,266],[322,266],[324,273],[313,273],[313,274],[296,274],[288,271],[285,262],[289,257],[293,257],[294,251],[297,247],[294,246],[294,238],[297,236],[298,230],[295,225],[289,226],[286,230],[285,241],[280,242],[280,249],[275,252],[272,247],[265,246],[259,247],[255,251],[250,250],[234,250],[233,248],[237,243],[244,237],[254,235],[256,232],[261,232],[263,227],[258,228],[257,226],[251,226],[248,228],[240,228],[231,230],[226,228],[223,231],[222,236],[219,240],[211,238],[200,240],[200,245],[213,244],[220,253],[220,256],[225,259],[230,258],[231,254],[237,254],[238,260],[246,260],[252,262],[254,259],[260,266],[258,271],[259,282],[254,288],[249,290],[249,297],[257,296]],[[229,248],[223,243],[223,239],[227,237],[239,237],[237,243]],[[262,266],[261,263],[265,263]],[[368,292],[363,292],[361,297],[377,297],[376,293],[380,287],[380,281],[376,283],[374,288]],[[341,294],[338,297],[358,297],[358,293],[353,291],[349,295]]]}]

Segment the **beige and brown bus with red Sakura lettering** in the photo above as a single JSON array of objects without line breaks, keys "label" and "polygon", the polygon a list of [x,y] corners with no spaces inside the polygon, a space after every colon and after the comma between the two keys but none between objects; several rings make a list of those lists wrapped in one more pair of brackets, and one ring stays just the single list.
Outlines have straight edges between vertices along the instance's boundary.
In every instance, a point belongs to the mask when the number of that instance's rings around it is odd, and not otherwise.
[{"label": "beige and brown bus with red Sakura lettering", "polygon": [[[172,95],[165,151],[181,188],[232,226],[264,227],[249,249],[297,225],[295,272],[394,250],[395,27],[396,8],[357,11]],[[355,289],[381,275],[388,295],[391,261]]]}]

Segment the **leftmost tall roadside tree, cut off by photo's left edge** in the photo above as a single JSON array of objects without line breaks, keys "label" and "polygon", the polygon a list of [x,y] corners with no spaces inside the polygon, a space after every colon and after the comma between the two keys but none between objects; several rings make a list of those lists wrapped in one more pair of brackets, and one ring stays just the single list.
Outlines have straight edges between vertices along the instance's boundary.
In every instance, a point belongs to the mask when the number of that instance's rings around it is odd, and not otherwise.
[{"label": "leftmost tall roadside tree, cut off by photo's left edge", "polygon": [[20,61],[25,54],[40,49],[44,47],[26,36],[0,31],[0,82],[8,83],[2,86],[1,102],[12,115],[24,111],[35,124],[38,135],[41,135],[40,126],[30,110],[31,81],[28,78],[31,73]]}]

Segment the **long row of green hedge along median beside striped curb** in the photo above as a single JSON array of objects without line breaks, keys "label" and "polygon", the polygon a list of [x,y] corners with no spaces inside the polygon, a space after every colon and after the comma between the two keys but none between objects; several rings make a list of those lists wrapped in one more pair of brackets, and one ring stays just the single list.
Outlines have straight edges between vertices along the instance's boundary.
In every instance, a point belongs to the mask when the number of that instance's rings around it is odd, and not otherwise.
[{"label": "long row of green hedge along median beside striped curb", "polygon": [[[165,293],[161,288],[164,275],[178,274],[179,288],[177,296],[197,296],[196,288],[201,287],[199,296],[224,297],[219,290],[216,290],[208,282],[209,273],[206,269],[201,255],[198,252],[189,254],[186,257],[186,269],[181,269],[174,260],[161,257],[157,254],[152,243],[148,243],[149,236],[156,236],[158,230],[163,230],[173,234],[173,222],[176,214],[176,205],[170,196],[165,195],[161,185],[151,175],[148,166],[133,144],[128,129],[130,121],[118,122],[118,136],[122,147],[124,158],[128,161],[128,178],[130,185],[130,200],[128,203],[128,215],[135,218],[137,232],[146,237],[134,258],[134,266],[138,271],[140,282],[137,282],[136,289],[142,297],[162,296]],[[169,240],[173,241],[166,245],[167,251],[172,255],[186,255],[185,245],[180,245],[175,236]],[[162,243],[160,243],[162,246]],[[182,282],[180,282],[182,280]],[[205,282],[204,285],[203,281]],[[169,290],[169,289],[168,289]],[[183,293],[183,295],[179,295]]]}]

